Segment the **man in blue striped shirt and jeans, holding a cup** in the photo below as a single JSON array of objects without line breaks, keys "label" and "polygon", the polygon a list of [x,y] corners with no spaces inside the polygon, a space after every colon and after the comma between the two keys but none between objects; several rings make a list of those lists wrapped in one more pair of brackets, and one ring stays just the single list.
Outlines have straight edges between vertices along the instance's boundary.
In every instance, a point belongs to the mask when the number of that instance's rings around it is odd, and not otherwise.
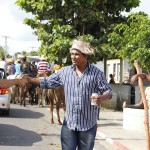
[{"label": "man in blue striped shirt and jeans, holding a cup", "polygon": [[[66,113],[61,129],[62,150],[93,150],[100,103],[112,97],[112,89],[97,67],[88,62],[94,54],[89,43],[75,40],[70,49],[72,65],[63,67],[48,78],[28,82],[42,88],[64,86]],[[92,93],[98,93],[91,97]],[[91,99],[96,105],[91,105]]]}]

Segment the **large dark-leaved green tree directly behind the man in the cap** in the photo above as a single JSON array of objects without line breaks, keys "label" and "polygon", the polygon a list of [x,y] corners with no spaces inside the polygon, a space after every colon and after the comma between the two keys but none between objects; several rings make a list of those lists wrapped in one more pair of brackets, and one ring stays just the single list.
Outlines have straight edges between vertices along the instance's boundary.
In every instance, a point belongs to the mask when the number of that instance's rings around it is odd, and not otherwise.
[{"label": "large dark-leaved green tree directly behind the man in the cap", "polygon": [[34,18],[25,23],[35,30],[40,50],[58,64],[70,62],[68,49],[74,38],[88,40],[97,48],[92,62],[111,55],[107,34],[111,24],[125,20],[122,11],[137,7],[140,0],[16,0]]}]

